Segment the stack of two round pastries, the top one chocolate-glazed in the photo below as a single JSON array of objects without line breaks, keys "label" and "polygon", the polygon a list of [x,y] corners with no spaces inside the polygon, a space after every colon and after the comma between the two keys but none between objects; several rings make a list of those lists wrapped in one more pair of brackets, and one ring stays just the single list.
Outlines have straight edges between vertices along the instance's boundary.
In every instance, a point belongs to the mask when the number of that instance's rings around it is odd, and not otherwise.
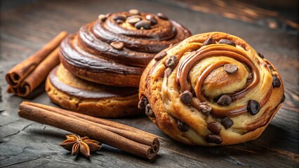
[{"label": "stack of two round pastries, the top one chocolate-glazed", "polygon": [[188,36],[189,30],[162,13],[99,15],[62,41],[61,64],[49,74],[46,91],[72,111],[105,118],[135,115],[145,66]]}]

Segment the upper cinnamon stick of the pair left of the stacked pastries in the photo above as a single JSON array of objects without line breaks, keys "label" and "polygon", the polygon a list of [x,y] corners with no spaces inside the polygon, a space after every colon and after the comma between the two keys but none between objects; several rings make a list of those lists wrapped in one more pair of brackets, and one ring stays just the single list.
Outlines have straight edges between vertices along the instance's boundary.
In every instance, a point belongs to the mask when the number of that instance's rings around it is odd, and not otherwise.
[{"label": "upper cinnamon stick of the pair left of the stacked pastries", "polygon": [[14,66],[8,73],[6,74],[6,81],[11,87],[18,87],[20,85],[20,82],[26,78],[26,76],[29,75],[30,72],[33,71],[33,69],[36,68],[36,66],[43,61],[55,48],[58,48],[60,45],[60,42],[63,38],[67,36],[66,31],[61,31],[58,36],[55,36],[53,40],[51,40],[49,43],[44,45],[41,50],[36,52],[34,55],[28,57],[24,61],[20,62],[20,64],[17,64]]}]

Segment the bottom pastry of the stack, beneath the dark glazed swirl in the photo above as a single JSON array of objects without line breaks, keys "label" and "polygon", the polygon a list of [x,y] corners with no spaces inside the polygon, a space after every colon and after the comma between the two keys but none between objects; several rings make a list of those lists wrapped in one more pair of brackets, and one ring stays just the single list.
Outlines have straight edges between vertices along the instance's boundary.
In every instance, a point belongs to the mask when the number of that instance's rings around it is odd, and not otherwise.
[{"label": "bottom pastry of the stack, beneath the dark glazed swirl", "polygon": [[91,83],[72,75],[62,64],[49,73],[46,92],[55,104],[89,116],[119,118],[140,113],[137,88]]}]

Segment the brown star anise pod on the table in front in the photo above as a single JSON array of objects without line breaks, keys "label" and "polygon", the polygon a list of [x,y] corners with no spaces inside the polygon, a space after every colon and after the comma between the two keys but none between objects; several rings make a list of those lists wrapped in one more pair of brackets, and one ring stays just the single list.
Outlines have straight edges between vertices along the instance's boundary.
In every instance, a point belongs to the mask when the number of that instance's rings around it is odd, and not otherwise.
[{"label": "brown star anise pod on the table in front", "polygon": [[99,141],[89,139],[88,137],[81,138],[79,135],[66,135],[67,139],[60,146],[67,151],[72,151],[72,155],[82,153],[86,158],[91,157],[91,153],[98,151],[102,146]]}]

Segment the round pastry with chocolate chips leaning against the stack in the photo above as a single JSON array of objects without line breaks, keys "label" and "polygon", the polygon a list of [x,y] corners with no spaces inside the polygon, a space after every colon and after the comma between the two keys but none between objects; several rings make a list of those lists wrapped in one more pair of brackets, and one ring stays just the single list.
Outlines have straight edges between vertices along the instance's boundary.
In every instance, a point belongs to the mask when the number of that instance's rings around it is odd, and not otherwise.
[{"label": "round pastry with chocolate chips leaning against the stack", "polygon": [[275,66],[237,36],[197,34],[164,52],[142,73],[138,106],[182,143],[256,139],[284,101]]}]

